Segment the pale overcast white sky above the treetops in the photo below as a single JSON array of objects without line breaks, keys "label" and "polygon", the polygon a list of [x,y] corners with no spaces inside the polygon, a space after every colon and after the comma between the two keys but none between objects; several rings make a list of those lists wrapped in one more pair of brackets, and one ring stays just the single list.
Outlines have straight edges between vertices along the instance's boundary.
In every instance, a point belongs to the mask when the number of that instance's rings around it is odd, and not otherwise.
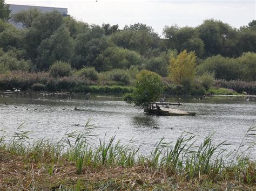
[{"label": "pale overcast white sky above the treetops", "polygon": [[68,8],[77,20],[98,24],[143,23],[161,35],[165,26],[198,26],[205,19],[222,20],[233,27],[256,19],[256,0],[5,0],[8,4]]}]

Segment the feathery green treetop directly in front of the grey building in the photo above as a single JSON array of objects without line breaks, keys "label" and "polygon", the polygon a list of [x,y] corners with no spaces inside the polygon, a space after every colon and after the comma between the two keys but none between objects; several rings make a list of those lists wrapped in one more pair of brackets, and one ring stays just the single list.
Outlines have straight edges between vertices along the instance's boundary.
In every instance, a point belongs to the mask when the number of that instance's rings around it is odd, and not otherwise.
[{"label": "feathery green treetop directly in front of the grey building", "polygon": [[23,27],[29,29],[32,26],[33,20],[41,15],[39,9],[29,9],[27,11],[20,11],[11,16],[15,23],[22,23]]}]

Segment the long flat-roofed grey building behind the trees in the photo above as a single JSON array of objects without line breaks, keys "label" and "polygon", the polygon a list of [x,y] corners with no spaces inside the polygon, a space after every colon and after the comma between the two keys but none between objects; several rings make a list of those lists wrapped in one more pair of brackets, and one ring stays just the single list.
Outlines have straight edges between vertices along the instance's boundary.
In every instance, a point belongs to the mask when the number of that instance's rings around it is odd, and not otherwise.
[{"label": "long flat-roofed grey building behind the trees", "polygon": [[[9,4],[9,9],[11,10],[11,14],[16,14],[19,11],[27,11],[29,9],[38,9],[41,12],[51,12],[54,10],[57,10],[58,12],[62,13],[64,17],[69,16],[68,15],[68,9],[67,8],[52,8],[48,6],[33,6],[33,5],[15,5],[15,4]],[[18,28],[22,28],[21,23],[14,23],[10,20],[10,23],[17,26]]]}]

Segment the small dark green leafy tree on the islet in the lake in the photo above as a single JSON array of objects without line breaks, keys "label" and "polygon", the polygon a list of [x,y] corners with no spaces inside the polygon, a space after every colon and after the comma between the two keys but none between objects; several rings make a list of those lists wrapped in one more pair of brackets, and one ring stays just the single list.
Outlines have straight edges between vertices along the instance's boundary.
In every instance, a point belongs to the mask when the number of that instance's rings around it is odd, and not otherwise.
[{"label": "small dark green leafy tree on the islet in the lake", "polygon": [[152,109],[152,104],[161,97],[163,91],[164,84],[161,76],[142,70],[137,75],[133,93],[126,94],[124,100],[144,109]]}]

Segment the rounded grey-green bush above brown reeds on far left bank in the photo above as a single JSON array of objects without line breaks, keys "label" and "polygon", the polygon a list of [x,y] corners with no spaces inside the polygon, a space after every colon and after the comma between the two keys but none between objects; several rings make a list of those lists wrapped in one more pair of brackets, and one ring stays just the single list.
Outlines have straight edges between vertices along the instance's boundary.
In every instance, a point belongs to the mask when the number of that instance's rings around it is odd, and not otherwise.
[{"label": "rounded grey-green bush above brown reeds on far left bank", "polygon": [[64,77],[71,74],[71,65],[67,62],[56,61],[50,66],[50,76]]}]

